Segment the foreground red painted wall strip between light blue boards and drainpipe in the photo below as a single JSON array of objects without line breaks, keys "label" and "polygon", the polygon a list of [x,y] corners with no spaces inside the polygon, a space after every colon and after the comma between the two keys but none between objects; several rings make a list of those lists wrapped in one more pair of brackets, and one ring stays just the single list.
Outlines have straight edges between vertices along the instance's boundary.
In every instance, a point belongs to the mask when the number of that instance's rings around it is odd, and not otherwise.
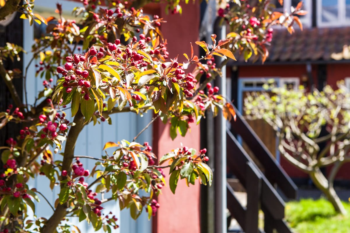
[{"label": "foreground red painted wall strip between light blue boards and drainpipe", "polygon": [[[182,15],[166,15],[165,5],[161,5],[160,17],[167,23],[161,26],[164,38],[168,41],[169,58],[174,58],[179,54],[179,62],[185,58],[183,53],[190,52],[190,42],[194,44],[198,40],[200,8],[198,1],[188,5],[182,4]],[[195,54],[198,48],[194,46]],[[153,150],[158,156],[180,147],[181,143],[188,147],[200,149],[200,129],[195,124],[191,125],[191,132],[186,137],[177,136],[172,141],[169,134],[169,125],[164,125],[161,121],[156,121],[153,125]],[[168,174],[168,170],[165,171]],[[166,177],[168,182],[169,176]],[[176,194],[174,195],[169,187],[162,190],[158,197],[159,208],[153,218],[153,233],[199,233],[200,232],[200,185],[186,186],[184,180],[179,181]]]}]

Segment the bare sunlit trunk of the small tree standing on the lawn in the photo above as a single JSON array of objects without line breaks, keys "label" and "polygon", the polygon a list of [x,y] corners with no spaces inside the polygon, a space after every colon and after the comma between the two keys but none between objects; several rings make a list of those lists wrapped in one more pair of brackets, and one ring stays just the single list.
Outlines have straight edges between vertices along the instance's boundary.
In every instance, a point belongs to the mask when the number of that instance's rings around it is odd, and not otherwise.
[{"label": "bare sunlit trunk of the small tree standing on the lawn", "polygon": [[346,215],[346,210],[340,201],[337,193],[335,192],[333,185],[329,184],[327,178],[322,174],[319,168],[309,173],[311,180],[314,182],[316,187],[320,189],[323,194],[327,197],[328,201],[332,203],[336,212]]}]

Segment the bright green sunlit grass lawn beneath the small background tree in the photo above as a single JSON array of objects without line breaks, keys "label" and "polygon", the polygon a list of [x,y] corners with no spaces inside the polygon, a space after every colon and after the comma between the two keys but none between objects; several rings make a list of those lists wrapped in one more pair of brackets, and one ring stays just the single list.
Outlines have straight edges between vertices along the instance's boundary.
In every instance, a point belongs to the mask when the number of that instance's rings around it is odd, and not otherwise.
[{"label": "bright green sunlit grass lawn beneath the small background tree", "polygon": [[347,216],[334,211],[325,199],[302,199],[286,204],[286,220],[296,233],[349,233],[350,203],[343,202]]}]

